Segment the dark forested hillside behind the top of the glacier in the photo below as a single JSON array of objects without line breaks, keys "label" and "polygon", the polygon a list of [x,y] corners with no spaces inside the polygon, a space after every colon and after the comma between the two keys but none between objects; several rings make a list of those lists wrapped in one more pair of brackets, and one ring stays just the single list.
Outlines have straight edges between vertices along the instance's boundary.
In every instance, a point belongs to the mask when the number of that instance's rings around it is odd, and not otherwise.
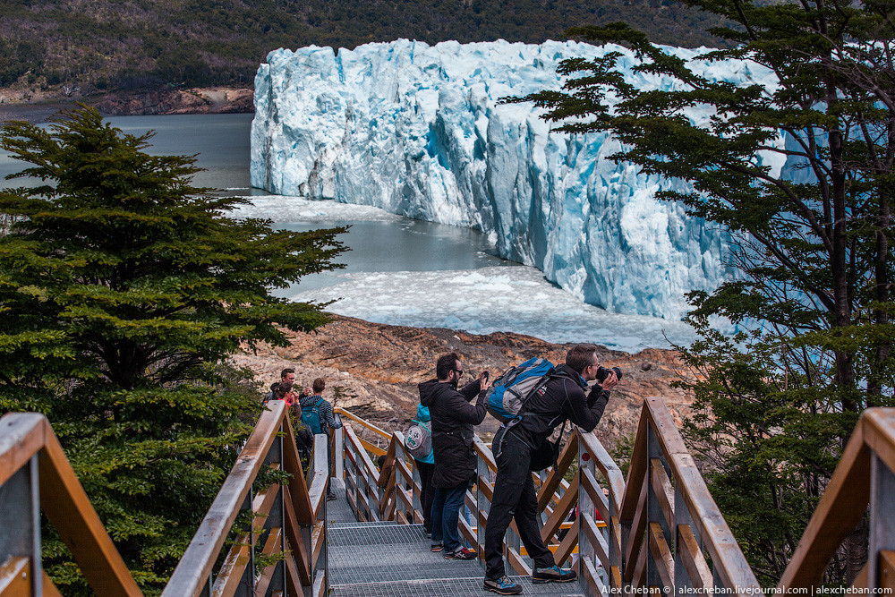
[{"label": "dark forested hillside behind the top of the glacier", "polygon": [[[717,43],[713,15],[671,0],[3,0],[0,89],[77,95],[251,87],[278,47],[562,39],[627,21],[665,44]],[[52,94],[57,95],[57,94]]]}]

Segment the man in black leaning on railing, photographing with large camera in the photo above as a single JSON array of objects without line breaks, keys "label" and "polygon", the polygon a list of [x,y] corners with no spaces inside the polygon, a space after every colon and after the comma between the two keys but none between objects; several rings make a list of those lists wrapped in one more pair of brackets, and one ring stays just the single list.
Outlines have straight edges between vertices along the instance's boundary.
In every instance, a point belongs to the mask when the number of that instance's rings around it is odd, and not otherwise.
[{"label": "man in black leaning on railing, photographing with large camera", "polygon": [[507,526],[516,519],[519,537],[534,560],[533,583],[566,583],[575,580],[575,571],[560,568],[541,540],[538,523],[538,499],[532,481],[532,456],[559,424],[571,421],[582,431],[593,431],[609,402],[609,389],[618,383],[615,372],[600,384],[594,384],[587,397],[587,382],[596,380],[599,365],[597,347],[575,345],[558,365],[541,391],[524,403],[515,424],[501,425],[491,449],[498,465],[494,499],[485,527],[484,588],[494,593],[522,593],[522,587],[504,572],[503,539]]}]

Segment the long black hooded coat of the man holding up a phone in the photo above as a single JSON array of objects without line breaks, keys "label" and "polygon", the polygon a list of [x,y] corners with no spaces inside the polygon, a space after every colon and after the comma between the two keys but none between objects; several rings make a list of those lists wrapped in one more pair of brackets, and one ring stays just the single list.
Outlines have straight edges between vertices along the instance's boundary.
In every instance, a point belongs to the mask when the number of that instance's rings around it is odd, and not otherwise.
[{"label": "long black hooded coat of the man holding up a phone", "polygon": [[[424,381],[419,385],[420,403],[432,417],[432,449],[435,473],[432,485],[447,489],[469,480],[476,469],[473,426],[485,418],[485,392],[478,380],[457,391],[447,382]],[[470,401],[479,395],[475,405]]]}]

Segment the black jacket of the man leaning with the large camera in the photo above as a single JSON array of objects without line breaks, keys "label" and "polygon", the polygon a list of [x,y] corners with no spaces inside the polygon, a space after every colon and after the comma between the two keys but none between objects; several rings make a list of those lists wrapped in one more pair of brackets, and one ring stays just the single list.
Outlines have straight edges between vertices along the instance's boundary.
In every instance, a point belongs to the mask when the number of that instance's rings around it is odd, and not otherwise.
[{"label": "black jacket of the man leaning with the large camera", "polygon": [[584,431],[593,431],[609,403],[609,390],[594,384],[584,397],[586,389],[587,383],[577,371],[565,363],[558,365],[543,391],[525,402],[522,420],[510,432],[537,448],[566,421]]}]

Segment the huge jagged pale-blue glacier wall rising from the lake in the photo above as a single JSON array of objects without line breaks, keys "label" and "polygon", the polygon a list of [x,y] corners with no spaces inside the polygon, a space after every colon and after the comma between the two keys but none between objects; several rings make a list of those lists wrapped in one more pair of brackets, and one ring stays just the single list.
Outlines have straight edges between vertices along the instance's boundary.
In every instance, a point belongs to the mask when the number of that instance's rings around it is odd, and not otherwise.
[{"label": "huge jagged pale-blue glacier wall rising from the lake", "polygon": [[[674,85],[635,72],[624,47],[578,42],[275,50],[255,78],[251,184],[480,229],[501,257],[541,269],[585,303],[677,320],[686,292],[733,275],[724,231],[655,199],[684,183],[607,159],[621,149],[611,135],[554,132],[533,104],[500,104],[559,89],[565,58],[609,51],[638,88]],[[754,63],[670,51],[715,80],[773,84]],[[688,116],[700,124],[711,114]]]}]

